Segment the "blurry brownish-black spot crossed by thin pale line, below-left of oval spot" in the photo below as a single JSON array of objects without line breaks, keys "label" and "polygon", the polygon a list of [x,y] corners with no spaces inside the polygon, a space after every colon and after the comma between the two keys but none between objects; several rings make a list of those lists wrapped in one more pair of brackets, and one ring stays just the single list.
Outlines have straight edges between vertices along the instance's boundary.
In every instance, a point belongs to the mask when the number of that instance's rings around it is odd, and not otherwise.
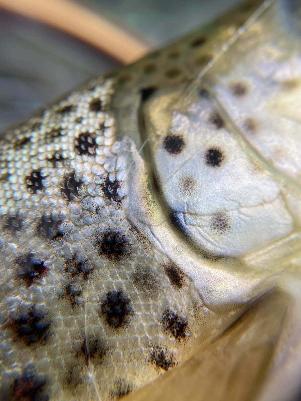
[{"label": "blurry brownish-black spot crossed by thin pale line, below-left of oval spot", "polygon": [[91,361],[93,365],[100,365],[104,356],[108,353],[108,350],[109,348],[105,341],[99,338],[89,337],[87,341],[83,341],[76,356],[77,358],[82,356],[87,366],[89,365],[89,361]]}]

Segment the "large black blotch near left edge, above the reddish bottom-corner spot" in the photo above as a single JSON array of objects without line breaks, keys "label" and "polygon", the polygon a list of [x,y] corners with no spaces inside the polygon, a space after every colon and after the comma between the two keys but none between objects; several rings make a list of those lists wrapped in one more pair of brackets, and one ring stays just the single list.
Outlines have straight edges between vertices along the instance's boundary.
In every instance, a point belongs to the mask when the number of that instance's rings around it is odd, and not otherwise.
[{"label": "large black blotch near left edge, above the reddish bottom-corner spot", "polygon": [[51,320],[44,308],[35,305],[20,307],[9,318],[8,328],[16,334],[16,340],[25,345],[44,345],[50,336]]}]

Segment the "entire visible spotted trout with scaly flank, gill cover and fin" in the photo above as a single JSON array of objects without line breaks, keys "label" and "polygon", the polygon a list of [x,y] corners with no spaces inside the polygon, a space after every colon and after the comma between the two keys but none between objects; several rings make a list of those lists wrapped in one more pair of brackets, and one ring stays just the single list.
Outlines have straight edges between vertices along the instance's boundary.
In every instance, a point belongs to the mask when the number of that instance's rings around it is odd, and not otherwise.
[{"label": "entire visible spotted trout with scaly flank, gill cover and fin", "polygon": [[297,6],[249,2],[4,133],[1,400],[298,399]]}]

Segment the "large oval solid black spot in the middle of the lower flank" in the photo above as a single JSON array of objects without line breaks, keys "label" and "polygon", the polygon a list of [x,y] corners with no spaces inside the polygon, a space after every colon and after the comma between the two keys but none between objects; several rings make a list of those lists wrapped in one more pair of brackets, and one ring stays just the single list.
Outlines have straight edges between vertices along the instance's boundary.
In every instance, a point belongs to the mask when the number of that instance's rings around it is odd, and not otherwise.
[{"label": "large oval solid black spot in the middle of the lower flank", "polygon": [[114,329],[127,326],[134,314],[130,298],[122,291],[110,291],[102,301],[101,312],[108,325]]}]

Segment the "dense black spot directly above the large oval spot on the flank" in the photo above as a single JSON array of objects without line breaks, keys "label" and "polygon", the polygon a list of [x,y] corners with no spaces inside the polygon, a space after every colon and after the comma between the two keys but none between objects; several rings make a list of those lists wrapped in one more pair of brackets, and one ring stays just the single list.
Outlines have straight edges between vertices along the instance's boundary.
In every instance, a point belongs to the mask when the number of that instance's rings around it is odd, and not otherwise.
[{"label": "dense black spot directly above the large oval spot on the flank", "polygon": [[132,248],[130,239],[125,234],[109,231],[98,240],[100,254],[109,259],[122,259]]}]

